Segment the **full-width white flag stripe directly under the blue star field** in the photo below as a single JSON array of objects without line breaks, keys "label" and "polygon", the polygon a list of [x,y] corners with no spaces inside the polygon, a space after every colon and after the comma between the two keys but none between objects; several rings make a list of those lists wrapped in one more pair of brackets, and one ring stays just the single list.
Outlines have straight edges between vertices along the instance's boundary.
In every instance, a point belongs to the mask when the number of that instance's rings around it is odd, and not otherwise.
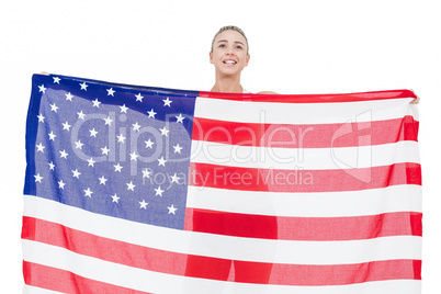
[{"label": "full-width white flag stripe directly under the blue star field", "polygon": [[417,236],[350,241],[292,241],[228,237],[128,222],[36,196],[24,196],[24,215],[145,247],[234,260],[293,264],[346,264],[389,259],[421,259],[421,238]]}]

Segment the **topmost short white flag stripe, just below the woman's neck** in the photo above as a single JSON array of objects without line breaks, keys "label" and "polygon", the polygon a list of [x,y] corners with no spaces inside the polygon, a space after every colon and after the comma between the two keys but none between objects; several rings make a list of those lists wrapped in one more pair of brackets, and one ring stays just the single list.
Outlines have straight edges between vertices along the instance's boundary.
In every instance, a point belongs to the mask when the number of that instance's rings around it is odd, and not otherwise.
[{"label": "topmost short white flag stripe, just below the woman's neck", "polygon": [[411,98],[341,103],[276,103],[197,98],[195,117],[263,124],[330,124],[399,118],[416,113]]}]

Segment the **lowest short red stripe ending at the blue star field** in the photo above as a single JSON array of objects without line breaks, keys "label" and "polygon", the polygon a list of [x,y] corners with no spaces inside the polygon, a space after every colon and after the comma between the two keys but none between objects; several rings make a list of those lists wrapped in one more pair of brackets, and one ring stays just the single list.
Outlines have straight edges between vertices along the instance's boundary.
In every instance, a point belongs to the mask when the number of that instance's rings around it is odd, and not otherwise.
[{"label": "lowest short red stripe ending at the blue star field", "polygon": [[421,213],[351,217],[284,217],[186,208],[185,230],[236,237],[333,241],[422,236]]}]

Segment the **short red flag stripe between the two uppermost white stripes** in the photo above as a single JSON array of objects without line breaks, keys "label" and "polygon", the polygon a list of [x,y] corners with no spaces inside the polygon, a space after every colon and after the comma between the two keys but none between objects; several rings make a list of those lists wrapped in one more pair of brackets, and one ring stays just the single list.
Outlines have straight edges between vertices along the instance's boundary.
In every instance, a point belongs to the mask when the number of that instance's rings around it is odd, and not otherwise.
[{"label": "short red flag stripe between the two uppermost white stripes", "polygon": [[[419,122],[403,118],[346,124],[253,124],[195,117],[193,140],[240,146],[330,148],[418,140]],[[362,138],[369,136],[369,140]]]}]

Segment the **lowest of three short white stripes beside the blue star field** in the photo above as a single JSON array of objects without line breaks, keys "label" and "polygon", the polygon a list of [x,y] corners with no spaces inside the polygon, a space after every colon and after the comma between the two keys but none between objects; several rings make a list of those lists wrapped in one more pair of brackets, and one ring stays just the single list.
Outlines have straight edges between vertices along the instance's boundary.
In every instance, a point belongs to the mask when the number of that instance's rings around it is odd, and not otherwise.
[{"label": "lowest of three short white stripes beside the blue star field", "polygon": [[422,212],[420,185],[318,193],[274,193],[189,186],[186,206],[229,213],[341,217]]}]

